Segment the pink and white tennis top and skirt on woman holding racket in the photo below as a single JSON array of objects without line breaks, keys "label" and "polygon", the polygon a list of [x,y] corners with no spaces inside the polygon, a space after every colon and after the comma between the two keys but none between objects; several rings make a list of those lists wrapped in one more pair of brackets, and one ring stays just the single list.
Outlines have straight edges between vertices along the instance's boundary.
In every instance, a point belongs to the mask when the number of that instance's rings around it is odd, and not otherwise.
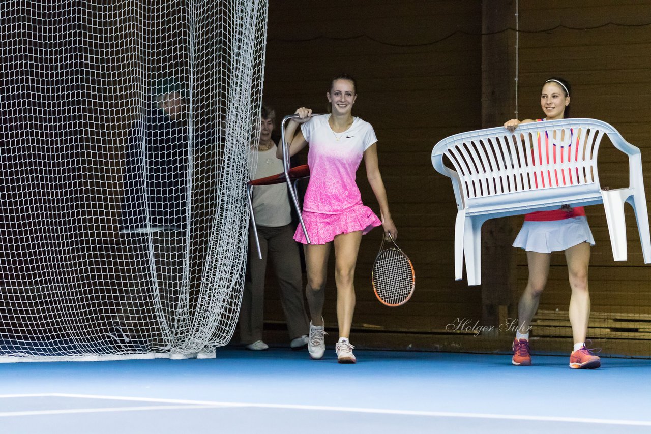
[{"label": "pink and white tennis top and skirt on woman holding racket", "polygon": [[[307,163],[310,181],[303,200],[303,221],[312,244],[326,244],[339,234],[361,230],[367,234],[382,223],[362,203],[355,174],[364,151],[378,141],[373,127],[360,118],[343,133],[328,124],[330,115],[314,116],[301,124],[309,143]],[[307,244],[303,228],[296,228],[294,239]]]}]

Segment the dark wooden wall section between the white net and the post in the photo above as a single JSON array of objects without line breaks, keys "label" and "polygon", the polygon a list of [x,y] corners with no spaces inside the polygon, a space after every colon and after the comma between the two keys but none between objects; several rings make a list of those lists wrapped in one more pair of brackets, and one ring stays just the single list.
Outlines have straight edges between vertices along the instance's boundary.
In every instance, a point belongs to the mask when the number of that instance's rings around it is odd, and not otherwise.
[{"label": "dark wooden wall section between the white net and the post", "polygon": [[[331,77],[348,72],[357,79],[353,113],[376,130],[400,246],[416,269],[413,299],[398,308],[381,305],[370,286],[381,231],[364,237],[355,279],[359,327],[431,331],[443,329],[450,317],[480,316],[478,289],[454,282],[450,228],[456,206],[449,180],[431,163],[437,141],[480,128],[480,31],[477,1],[270,3],[265,100],[279,117],[301,105],[324,111]],[[343,39],[357,35],[367,36]],[[428,42],[434,43],[419,46]],[[357,182],[365,204],[378,212],[363,165]],[[324,316],[334,325],[332,264],[329,271]],[[283,321],[273,280],[266,318]]]}]

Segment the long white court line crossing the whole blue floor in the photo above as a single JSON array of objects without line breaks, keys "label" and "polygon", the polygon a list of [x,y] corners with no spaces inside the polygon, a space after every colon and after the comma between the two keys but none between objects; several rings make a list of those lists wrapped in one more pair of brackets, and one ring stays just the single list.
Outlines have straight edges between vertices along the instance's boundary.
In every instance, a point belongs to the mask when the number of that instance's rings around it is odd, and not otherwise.
[{"label": "long white court line crossing the whole blue floor", "polygon": [[[25,395],[0,395],[0,398],[29,398],[34,396],[54,396],[59,398],[87,398],[93,400],[120,400],[120,401],[145,401],[186,404],[180,405],[179,409],[189,408],[236,408],[236,407],[254,407],[266,409],[292,409],[292,410],[316,410],[316,411],[340,411],[347,413],[373,413],[373,414],[399,414],[406,416],[430,416],[430,417],[450,417],[450,418],[478,418],[478,419],[501,419],[501,420],[533,420],[538,422],[574,422],[580,424],[603,424],[603,425],[623,425],[623,426],[651,426],[648,420],[625,420],[625,419],[594,419],[594,418],[574,418],[564,416],[527,416],[525,414],[492,414],[492,413],[454,413],[450,411],[418,411],[418,410],[392,410],[392,409],[370,409],[361,407],[328,407],[326,405],[296,405],[296,404],[270,404],[270,403],[245,403],[245,402],[222,402],[222,401],[196,401],[196,400],[173,400],[167,398],[138,398],[133,396],[105,396],[105,395],[85,395],[85,394],[66,394],[66,393],[49,393],[49,394],[25,394]],[[197,407],[194,407],[197,406]],[[142,407],[145,409],[159,409],[159,407]],[[171,406],[173,407],[173,406]],[[125,409],[135,409],[138,407],[124,407]],[[62,413],[84,413],[92,409],[81,409],[83,411],[69,409],[61,411]],[[98,409],[98,411],[106,411]],[[51,414],[55,410],[33,411],[33,414]],[[59,410],[56,410],[59,411]],[[121,410],[120,410],[121,411]],[[20,413],[20,412],[16,412]],[[2,416],[3,413],[0,413]]]}]

